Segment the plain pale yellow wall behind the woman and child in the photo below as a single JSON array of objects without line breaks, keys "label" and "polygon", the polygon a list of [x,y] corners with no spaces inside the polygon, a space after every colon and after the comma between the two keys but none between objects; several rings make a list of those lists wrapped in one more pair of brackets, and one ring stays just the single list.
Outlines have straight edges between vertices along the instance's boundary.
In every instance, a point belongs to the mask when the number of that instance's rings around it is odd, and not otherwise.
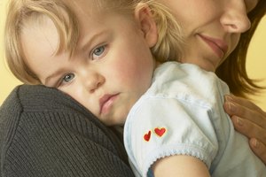
[{"label": "plain pale yellow wall behind the woman and child", "polygon": [[[17,81],[4,63],[3,53],[3,29],[5,18],[5,6],[7,0],[0,0],[0,105],[11,90],[20,81]],[[248,51],[247,71],[253,78],[264,79],[262,84],[266,86],[266,17],[262,19],[260,27],[257,29],[252,45]],[[266,111],[266,92],[260,96],[253,96],[254,102]]]}]

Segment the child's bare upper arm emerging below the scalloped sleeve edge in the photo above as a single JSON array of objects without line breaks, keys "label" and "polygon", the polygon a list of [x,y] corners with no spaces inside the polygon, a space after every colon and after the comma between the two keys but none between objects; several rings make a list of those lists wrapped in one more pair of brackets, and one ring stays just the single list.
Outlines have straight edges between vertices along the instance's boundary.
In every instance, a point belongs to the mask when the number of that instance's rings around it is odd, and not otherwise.
[{"label": "child's bare upper arm emerging below the scalloped sleeve edge", "polygon": [[210,176],[207,166],[199,158],[183,155],[161,158],[153,165],[153,173],[155,177]]}]

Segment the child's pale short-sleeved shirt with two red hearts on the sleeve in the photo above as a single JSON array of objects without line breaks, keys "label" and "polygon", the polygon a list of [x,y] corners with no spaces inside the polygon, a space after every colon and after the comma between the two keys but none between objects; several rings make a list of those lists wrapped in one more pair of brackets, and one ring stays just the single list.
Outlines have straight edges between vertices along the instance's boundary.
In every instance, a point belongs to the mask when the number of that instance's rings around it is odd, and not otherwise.
[{"label": "child's pale short-sleeved shirt with two red hearts on the sleeve", "polygon": [[266,176],[265,165],[223,111],[223,96],[229,93],[215,73],[197,65],[160,65],[124,127],[134,173],[147,176],[159,158],[182,154],[200,158],[213,177]]}]

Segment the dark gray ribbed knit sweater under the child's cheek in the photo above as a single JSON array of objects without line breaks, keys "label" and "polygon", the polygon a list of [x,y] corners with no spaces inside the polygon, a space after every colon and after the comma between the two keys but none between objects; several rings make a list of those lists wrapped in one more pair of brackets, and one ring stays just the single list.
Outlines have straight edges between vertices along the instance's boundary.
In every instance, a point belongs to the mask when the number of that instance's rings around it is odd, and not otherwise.
[{"label": "dark gray ribbed knit sweater under the child's cheek", "polygon": [[20,86],[0,108],[0,176],[133,176],[121,140],[56,89]]}]

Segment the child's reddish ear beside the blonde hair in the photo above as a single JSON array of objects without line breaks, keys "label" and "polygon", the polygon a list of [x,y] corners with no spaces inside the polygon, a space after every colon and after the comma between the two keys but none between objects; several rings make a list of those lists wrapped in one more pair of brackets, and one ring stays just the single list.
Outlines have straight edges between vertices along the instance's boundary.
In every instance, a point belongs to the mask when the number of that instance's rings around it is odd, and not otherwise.
[{"label": "child's reddish ear beside the blonde hair", "polygon": [[145,4],[138,4],[135,17],[145,35],[145,41],[152,48],[158,41],[158,30],[151,9]]}]

